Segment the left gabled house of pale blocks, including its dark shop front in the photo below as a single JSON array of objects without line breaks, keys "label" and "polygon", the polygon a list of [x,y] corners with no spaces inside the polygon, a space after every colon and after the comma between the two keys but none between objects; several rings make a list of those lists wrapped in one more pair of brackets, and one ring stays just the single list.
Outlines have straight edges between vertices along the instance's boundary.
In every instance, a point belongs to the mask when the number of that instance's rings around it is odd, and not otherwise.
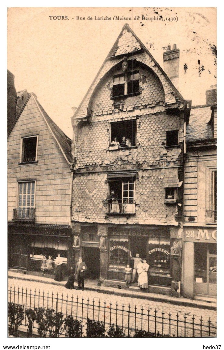
[{"label": "left gabled house of pale blocks, including its dark shop front", "polygon": [[72,247],[71,140],[26,90],[8,135],[8,266],[40,271],[42,259],[60,253],[67,275]]}]

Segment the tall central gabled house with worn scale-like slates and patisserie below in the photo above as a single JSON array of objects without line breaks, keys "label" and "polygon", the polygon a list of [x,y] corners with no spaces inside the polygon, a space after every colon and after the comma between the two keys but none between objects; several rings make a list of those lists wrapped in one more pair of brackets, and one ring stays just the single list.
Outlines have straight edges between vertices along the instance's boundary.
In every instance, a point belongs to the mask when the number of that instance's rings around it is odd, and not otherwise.
[{"label": "tall central gabled house with worn scale-like slates and patisserie below", "polygon": [[73,249],[107,285],[139,253],[149,291],[180,295],[190,103],[172,82],[175,45],[164,62],[168,75],[125,25],[73,116]]}]

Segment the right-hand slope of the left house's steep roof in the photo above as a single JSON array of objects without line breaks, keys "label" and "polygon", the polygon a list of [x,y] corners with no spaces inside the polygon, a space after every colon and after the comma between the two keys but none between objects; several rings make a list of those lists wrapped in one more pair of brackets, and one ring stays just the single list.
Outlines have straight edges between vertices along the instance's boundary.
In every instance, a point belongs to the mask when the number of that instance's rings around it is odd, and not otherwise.
[{"label": "right-hand slope of the left house's steep roof", "polygon": [[[35,98],[35,97],[34,97]],[[72,140],[66,136],[66,134],[54,123],[54,121],[48,116],[48,114],[43,109],[42,105],[35,98],[36,103],[46,119],[47,124],[50,126],[51,131],[54,134],[54,137],[57,139],[59,146],[62,148],[63,153],[65,154],[69,163],[73,163],[73,156],[71,153],[71,142]]]}]

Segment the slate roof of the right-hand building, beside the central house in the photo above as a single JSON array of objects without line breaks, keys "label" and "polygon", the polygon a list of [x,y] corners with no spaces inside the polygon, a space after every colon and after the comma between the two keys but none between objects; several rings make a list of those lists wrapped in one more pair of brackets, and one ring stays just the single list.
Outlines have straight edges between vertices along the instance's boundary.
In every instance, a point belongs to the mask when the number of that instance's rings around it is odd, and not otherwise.
[{"label": "slate roof of the right-hand building, beside the central house", "polygon": [[186,141],[206,140],[213,138],[211,106],[193,106],[191,108],[189,124],[186,128]]}]

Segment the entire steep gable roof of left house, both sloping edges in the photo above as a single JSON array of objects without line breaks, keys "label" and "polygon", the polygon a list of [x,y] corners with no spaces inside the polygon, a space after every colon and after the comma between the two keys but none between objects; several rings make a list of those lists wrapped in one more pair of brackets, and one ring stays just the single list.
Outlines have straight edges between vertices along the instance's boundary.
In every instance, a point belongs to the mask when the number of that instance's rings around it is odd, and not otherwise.
[{"label": "entire steep gable roof of left house, both sloping edges", "polygon": [[[23,90],[25,91],[25,90]],[[68,165],[71,167],[73,164],[73,155],[71,153],[71,142],[72,140],[69,139],[69,137],[66,136],[66,134],[54,123],[54,121],[48,116],[48,114],[45,112],[45,110],[43,109],[42,105],[40,105],[40,103],[37,100],[37,97],[34,93],[29,93],[29,97],[27,99],[27,101],[25,102],[20,114],[18,114],[18,117],[15,120],[15,123],[13,124],[11,130],[9,131],[8,137],[11,133],[11,131],[13,130],[13,127],[15,126],[17,120],[20,118],[22,111],[24,110],[24,107],[27,105],[27,102],[30,98],[33,98],[33,100],[35,101],[40,113],[42,114],[49,130],[51,131],[55,141],[57,142],[59,148],[61,149],[62,154],[64,155]]]}]

